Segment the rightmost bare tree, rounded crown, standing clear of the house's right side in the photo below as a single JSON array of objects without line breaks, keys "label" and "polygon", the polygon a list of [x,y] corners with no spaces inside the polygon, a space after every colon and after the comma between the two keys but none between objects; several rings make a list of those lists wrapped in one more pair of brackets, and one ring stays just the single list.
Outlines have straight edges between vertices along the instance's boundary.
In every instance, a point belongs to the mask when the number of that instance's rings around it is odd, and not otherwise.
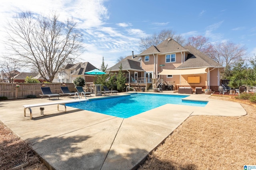
[{"label": "rightmost bare tree, rounded crown, standing clear of the house's right side", "polygon": [[237,61],[243,59],[245,55],[246,48],[244,46],[229,41],[214,45],[214,50],[209,56],[228,68]]}]

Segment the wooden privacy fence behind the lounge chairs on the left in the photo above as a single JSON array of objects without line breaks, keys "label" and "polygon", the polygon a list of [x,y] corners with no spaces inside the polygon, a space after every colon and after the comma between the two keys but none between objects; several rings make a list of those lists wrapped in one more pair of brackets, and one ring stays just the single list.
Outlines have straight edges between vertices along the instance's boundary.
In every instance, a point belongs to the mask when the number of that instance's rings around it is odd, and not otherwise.
[{"label": "wooden privacy fence behind the lounge chairs on the left", "polygon": [[[65,83],[70,92],[76,92],[73,83]],[[16,86],[19,87],[16,87]],[[50,87],[52,93],[61,93],[60,87],[63,83],[44,83],[45,87]],[[0,83],[0,97],[8,99],[27,98],[28,95],[39,97],[42,94],[41,88],[43,83]]]}]

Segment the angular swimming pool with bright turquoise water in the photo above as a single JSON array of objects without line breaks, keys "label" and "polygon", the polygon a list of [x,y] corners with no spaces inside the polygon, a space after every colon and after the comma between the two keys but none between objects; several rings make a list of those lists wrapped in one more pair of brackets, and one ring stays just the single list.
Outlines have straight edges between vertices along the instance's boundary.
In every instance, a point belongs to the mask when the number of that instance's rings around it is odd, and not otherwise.
[{"label": "angular swimming pool with bright turquoise water", "polygon": [[186,95],[134,93],[131,95],[116,96],[112,98],[90,99],[87,102],[70,103],[66,104],[66,106],[121,118],[128,118],[165,104],[180,104],[200,107],[204,107],[207,104],[207,101],[182,101],[182,98],[186,97]]}]

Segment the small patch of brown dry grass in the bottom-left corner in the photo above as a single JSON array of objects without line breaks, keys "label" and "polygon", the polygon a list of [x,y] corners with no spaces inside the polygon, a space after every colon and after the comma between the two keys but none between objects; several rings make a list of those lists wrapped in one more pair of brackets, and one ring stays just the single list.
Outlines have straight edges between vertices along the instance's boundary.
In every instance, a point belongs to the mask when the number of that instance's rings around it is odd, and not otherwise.
[{"label": "small patch of brown dry grass in the bottom-left corner", "polygon": [[0,122],[0,169],[9,170],[26,162],[31,165],[24,170],[47,170],[28,144]]}]

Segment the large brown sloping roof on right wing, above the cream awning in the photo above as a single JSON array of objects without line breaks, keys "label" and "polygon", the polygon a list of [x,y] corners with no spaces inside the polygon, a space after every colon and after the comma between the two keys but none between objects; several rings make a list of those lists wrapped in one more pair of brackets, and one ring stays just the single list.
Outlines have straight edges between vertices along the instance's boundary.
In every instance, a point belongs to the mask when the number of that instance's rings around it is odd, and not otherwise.
[{"label": "large brown sloping roof on right wing, above the cream awning", "polygon": [[202,68],[202,67],[223,67],[221,64],[217,63],[210,57],[206,56],[204,53],[198,51],[192,46],[185,46],[189,50],[186,61],[178,66],[176,69],[184,68]]}]

